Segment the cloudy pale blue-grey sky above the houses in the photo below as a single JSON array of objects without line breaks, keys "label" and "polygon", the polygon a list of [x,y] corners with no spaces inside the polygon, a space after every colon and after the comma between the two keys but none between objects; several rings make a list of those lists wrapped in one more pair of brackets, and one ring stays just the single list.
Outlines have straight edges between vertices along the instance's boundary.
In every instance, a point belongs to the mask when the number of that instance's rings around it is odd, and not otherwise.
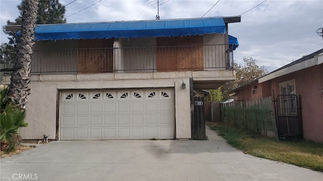
[{"label": "cloudy pale blue-grey sky above the houses", "polygon": [[[230,23],[228,28],[229,34],[239,41],[234,59],[243,64],[243,57],[251,56],[256,59],[257,65],[270,72],[323,48],[323,38],[316,33],[318,28],[323,27],[322,0],[264,1],[159,0],[159,17],[162,20],[200,18],[205,13],[204,17],[242,14],[241,22]],[[63,6],[66,5],[67,23],[154,20],[156,2],[60,0]],[[7,20],[14,21],[18,17],[17,5],[20,3],[20,0],[0,0],[1,26],[6,25]],[[0,39],[1,43],[8,42],[3,32]]]}]

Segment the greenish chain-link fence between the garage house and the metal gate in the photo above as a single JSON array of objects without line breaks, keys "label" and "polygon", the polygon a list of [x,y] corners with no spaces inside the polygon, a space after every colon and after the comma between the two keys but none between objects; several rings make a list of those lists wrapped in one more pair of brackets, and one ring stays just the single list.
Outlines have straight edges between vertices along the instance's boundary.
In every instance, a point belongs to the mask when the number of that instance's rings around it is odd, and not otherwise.
[{"label": "greenish chain-link fence between the garage house and the metal gate", "polygon": [[222,122],[265,136],[278,137],[271,97],[222,103]]}]

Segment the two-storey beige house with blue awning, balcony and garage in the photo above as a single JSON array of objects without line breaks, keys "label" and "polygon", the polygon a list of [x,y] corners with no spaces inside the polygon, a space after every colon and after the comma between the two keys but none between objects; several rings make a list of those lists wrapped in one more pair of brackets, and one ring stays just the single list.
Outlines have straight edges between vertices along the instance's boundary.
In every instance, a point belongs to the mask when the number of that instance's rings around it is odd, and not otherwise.
[{"label": "two-storey beige house with blue awning, balcony and garage", "polygon": [[193,91],[235,80],[228,24],[240,21],[38,25],[22,137],[190,139]]}]

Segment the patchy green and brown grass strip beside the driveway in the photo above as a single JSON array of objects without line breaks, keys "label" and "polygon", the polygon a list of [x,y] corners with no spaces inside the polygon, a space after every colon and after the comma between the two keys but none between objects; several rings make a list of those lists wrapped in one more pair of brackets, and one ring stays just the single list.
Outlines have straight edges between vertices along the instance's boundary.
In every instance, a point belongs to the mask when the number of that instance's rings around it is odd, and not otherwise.
[{"label": "patchy green and brown grass strip beside the driveway", "polygon": [[308,140],[277,142],[274,138],[244,132],[224,124],[207,123],[228,144],[256,157],[323,172],[323,144]]}]

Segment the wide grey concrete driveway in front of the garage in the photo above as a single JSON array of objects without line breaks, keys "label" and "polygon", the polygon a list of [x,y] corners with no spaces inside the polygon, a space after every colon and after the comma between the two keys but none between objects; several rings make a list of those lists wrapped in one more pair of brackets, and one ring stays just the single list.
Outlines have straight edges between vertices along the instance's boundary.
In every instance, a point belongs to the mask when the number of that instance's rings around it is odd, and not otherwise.
[{"label": "wide grey concrete driveway in front of the garage", "polygon": [[[1,158],[1,180],[323,180],[209,140],[57,141]],[[25,144],[28,146],[28,144]]]}]

